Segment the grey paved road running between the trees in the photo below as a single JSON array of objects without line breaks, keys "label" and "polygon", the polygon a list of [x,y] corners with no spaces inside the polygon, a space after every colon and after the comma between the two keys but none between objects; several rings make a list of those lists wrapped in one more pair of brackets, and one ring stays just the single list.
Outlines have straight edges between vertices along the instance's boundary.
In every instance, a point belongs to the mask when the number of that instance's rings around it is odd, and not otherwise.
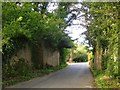
[{"label": "grey paved road running between the trees", "polygon": [[92,88],[92,82],[88,63],[72,63],[65,69],[11,88]]}]

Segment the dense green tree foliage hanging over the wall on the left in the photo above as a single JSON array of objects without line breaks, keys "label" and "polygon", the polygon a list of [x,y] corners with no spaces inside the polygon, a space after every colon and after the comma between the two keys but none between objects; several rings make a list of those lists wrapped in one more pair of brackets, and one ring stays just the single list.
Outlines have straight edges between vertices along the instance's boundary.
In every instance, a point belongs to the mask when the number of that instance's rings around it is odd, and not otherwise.
[{"label": "dense green tree foliage hanging over the wall on the left", "polygon": [[[48,3],[41,4],[45,7],[48,5]],[[65,27],[63,18],[48,12],[46,8],[43,8],[46,9],[44,13],[32,10],[35,5],[32,3],[3,3],[2,46],[5,61],[23,47],[24,39],[36,45],[43,42],[46,47],[58,49],[61,40],[69,38],[63,31]],[[69,42],[71,42],[70,38]]]}]

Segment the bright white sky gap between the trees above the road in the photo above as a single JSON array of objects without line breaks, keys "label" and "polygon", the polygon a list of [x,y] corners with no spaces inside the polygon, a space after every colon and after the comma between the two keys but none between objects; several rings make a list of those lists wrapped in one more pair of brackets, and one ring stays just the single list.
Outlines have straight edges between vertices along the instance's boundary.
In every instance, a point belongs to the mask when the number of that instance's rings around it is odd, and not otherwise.
[{"label": "bright white sky gap between the trees above the road", "polygon": [[[70,9],[72,10],[73,8],[76,8],[76,7],[81,8],[81,6],[82,5],[80,3],[78,3],[78,4],[75,4],[73,7],[71,7]],[[72,13],[78,14],[78,12],[72,12]],[[83,14],[84,14],[83,12],[80,12],[78,14],[78,16],[81,16]],[[73,20],[72,24],[73,25],[71,25],[71,26],[66,28],[66,30],[71,32],[69,34],[69,36],[72,37],[73,40],[77,39],[75,42],[82,42],[82,43],[84,43],[85,35],[81,35],[81,34],[86,31],[86,28],[83,27],[80,24],[84,24],[85,25],[85,17],[82,16],[79,19]]]}]

